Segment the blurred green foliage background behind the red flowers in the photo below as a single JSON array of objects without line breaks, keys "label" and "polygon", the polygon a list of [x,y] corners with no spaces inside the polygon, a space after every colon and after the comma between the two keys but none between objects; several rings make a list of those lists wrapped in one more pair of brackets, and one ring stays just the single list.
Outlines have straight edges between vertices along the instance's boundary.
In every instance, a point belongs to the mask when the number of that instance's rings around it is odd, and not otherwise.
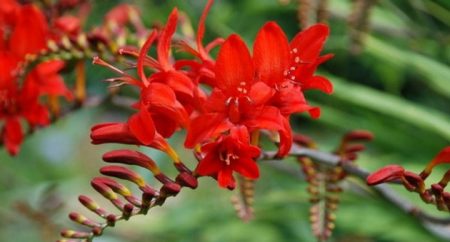
[{"label": "blurred green foliage background behind the red flowers", "polygon": [[[164,23],[177,6],[196,29],[206,1],[92,1],[87,28],[121,2],[139,6],[146,26]],[[320,73],[334,84],[334,94],[308,92],[308,100],[322,108],[321,118],[292,119],[295,131],[314,138],[320,149],[331,151],[347,131],[366,129],[375,140],[357,161],[361,167],[375,171],[397,163],[419,172],[450,144],[450,1],[217,0],[206,21],[206,40],[236,32],[250,45],[269,20],[277,21],[289,38],[317,20],[331,27],[322,53],[335,57],[321,66]],[[87,63],[88,93],[105,94],[107,84],[102,80],[113,74]],[[70,82],[74,76],[67,74],[66,79]],[[79,194],[97,197],[89,182],[99,175],[101,155],[123,148],[91,145],[90,127],[126,120],[129,114],[114,104],[83,108],[28,137],[17,157],[1,150],[0,241],[54,241],[61,227],[76,228],[67,214],[86,211],[78,204]],[[182,150],[181,135],[172,142]],[[140,150],[174,173],[164,155]],[[195,165],[190,154],[184,161]],[[299,170],[294,162],[285,165]],[[438,168],[430,181],[438,181],[449,169]],[[119,223],[95,241],[315,241],[307,184],[268,165],[262,164],[261,170],[255,219],[250,222],[236,216],[230,203],[233,192],[201,178],[197,190],[185,189],[165,206]],[[343,186],[348,189],[341,196],[330,241],[450,241],[450,227],[424,226],[379,199],[362,181],[349,178]],[[394,189],[427,212],[448,216],[422,204],[416,194]]]}]

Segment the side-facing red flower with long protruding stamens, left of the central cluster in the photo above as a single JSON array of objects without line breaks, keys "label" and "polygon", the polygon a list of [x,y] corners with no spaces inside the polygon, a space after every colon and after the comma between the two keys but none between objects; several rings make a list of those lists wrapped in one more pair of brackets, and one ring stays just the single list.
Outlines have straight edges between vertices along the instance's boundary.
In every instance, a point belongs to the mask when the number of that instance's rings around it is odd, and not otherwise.
[{"label": "side-facing red flower with long protruding stamens, left of the central cluster", "polygon": [[[159,34],[158,60],[147,56],[148,50],[158,36],[156,30],[149,35],[137,54],[139,80],[99,58],[94,59],[94,63],[107,66],[122,75],[115,80],[135,85],[141,89],[140,99],[134,105],[139,111],[128,119],[127,127],[132,136],[144,145],[151,145],[155,135],[167,138],[180,126],[187,127],[189,124],[188,113],[179,98],[189,99],[192,96],[194,86],[190,78],[182,71],[175,70],[169,61],[170,41],[175,32],[177,16],[175,9],[169,16],[166,27]],[[125,54],[136,55],[136,53],[127,50],[125,52]],[[144,71],[146,66],[155,71],[149,77],[146,76]]]}]

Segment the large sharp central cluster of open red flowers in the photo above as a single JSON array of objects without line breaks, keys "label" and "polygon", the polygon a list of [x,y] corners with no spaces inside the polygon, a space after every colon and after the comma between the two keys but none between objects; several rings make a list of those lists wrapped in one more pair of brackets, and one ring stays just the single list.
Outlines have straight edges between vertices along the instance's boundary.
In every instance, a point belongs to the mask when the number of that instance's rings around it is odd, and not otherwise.
[{"label": "large sharp central cluster of open red flowers", "polygon": [[[194,149],[199,159],[197,175],[212,176],[221,187],[234,188],[233,172],[256,179],[255,162],[260,155],[261,130],[279,136],[278,156],[287,155],[292,145],[289,118],[320,110],[310,106],[303,92],[319,89],[332,92],[331,83],[314,75],[317,67],[332,57],[320,56],[329,34],[326,25],[316,24],[291,41],[275,23],[266,23],[258,32],[252,54],[237,34],[203,45],[205,20],[213,1],[199,21],[195,47],[187,40],[173,41],[178,11],[174,9],[161,30],[153,30],[140,51],[122,49],[137,58],[138,78],[100,58],[94,63],[108,66],[119,77],[116,84],[140,90],[133,105],[136,113],[123,123],[104,123],[92,128],[93,143],[118,142],[146,145],[179,159],[166,138],[186,129],[185,147]],[[156,43],[156,44],[155,44]],[[156,45],[156,56],[147,53]],[[217,59],[210,50],[220,45]],[[194,59],[175,59],[171,49],[192,54]]]}]

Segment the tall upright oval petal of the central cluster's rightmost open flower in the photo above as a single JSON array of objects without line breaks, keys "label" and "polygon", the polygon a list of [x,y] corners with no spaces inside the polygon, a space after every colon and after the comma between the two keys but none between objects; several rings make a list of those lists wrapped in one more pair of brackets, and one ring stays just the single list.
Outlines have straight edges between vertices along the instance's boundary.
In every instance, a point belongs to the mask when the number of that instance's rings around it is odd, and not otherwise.
[{"label": "tall upright oval petal of the central cluster's rightmost open flower", "polygon": [[257,78],[269,86],[283,82],[284,71],[289,66],[289,57],[286,35],[275,22],[268,22],[259,31],[253,46]]}]

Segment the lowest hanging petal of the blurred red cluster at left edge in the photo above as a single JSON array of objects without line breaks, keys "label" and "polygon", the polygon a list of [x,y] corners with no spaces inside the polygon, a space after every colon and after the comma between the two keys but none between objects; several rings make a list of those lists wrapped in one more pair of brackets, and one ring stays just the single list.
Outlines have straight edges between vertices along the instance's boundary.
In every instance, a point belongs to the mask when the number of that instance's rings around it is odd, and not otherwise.
[{"label": "lowest hanging petal of the blurred red cluster at left edge", "polygon": [[23,132],[20,122],[16,118],[7,119],[3,127],[3,143],[9,154],[16,155],[23,142]]}]

